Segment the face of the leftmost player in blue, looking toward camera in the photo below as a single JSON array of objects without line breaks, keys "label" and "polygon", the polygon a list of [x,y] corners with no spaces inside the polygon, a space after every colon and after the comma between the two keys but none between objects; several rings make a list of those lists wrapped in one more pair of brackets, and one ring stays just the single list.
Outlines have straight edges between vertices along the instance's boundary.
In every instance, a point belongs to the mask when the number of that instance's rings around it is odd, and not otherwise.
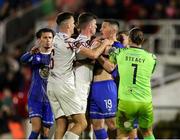
[{"label": "face of the leftmost player in blue, looking toward camera", "polygon": [[41,47],[44,47],[46,49],[52,47],[53,42],[53,34],[51,32],[44,32],[41,35],[41,38],[39,39],[39,43]]}]

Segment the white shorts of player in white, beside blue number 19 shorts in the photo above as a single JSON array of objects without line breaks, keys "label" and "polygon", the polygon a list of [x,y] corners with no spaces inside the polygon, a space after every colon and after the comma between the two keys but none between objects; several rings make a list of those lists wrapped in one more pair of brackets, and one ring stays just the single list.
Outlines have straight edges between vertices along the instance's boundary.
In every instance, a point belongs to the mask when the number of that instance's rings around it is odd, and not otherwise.
[{"label": "white shorts of player in white, beside blue number 19 shorts", "polygon": [[78,97],[81,99],[81,103],[83,105],[83,113],[86,113],[89,92],[90,83],[82,83],[80,81],[76,81],[76,93]]}]

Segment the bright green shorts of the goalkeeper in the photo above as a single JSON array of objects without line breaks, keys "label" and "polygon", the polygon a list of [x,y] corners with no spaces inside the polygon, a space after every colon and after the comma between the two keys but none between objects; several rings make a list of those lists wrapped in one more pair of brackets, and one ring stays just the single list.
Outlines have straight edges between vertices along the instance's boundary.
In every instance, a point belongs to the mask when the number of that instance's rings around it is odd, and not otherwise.
[{"label": "bright green shorts of the goalkeeper", "polygon": [[140,128],[147,129],[153,124],[153,105],[152,102],[134,102],[120,100],[116,113],[117,128],[126,132],[134,127],[135,119],[138,120]]}]

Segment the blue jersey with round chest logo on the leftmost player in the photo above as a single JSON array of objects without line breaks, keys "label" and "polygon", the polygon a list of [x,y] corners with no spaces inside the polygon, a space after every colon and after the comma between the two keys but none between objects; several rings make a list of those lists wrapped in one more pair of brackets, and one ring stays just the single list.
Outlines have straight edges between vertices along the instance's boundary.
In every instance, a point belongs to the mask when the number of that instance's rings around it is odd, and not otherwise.
[{"label": "blue jersey with round chest logo on the leftmost player", "polygon": [[35,101],[47,101],[47,78],[49,75],[51,53],[25,53],[21,57],[23,63],[27,63],[32,69],[31,87],[28,99]]}]

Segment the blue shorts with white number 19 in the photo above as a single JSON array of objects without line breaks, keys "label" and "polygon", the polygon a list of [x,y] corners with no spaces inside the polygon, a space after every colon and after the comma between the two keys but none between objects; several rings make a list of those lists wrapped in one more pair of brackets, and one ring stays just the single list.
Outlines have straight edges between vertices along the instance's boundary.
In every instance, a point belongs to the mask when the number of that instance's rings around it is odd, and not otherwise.
[{"label": "blue shorts with white number 19", "polygon": [[115,117],[117,87],[114,80],[93,82],[89,95],[89,117],[104,119]]}]

